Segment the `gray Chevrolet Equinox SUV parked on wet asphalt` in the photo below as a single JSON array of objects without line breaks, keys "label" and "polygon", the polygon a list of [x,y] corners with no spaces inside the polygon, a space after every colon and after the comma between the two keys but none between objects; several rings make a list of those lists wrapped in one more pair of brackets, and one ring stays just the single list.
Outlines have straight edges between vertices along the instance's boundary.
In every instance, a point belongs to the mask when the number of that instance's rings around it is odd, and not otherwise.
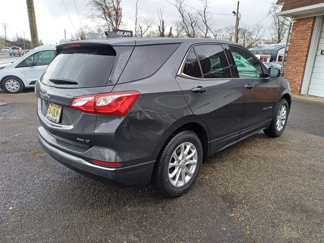
[{"label": "gray Chevrolet Equinox SUV parked on wet asphalt", "polygon": [[237,44],[112,38],[57,46],[35,86],[38,140],[66,167],[167,196],[212,154],[259,131],[278,137],[289,83]]}]

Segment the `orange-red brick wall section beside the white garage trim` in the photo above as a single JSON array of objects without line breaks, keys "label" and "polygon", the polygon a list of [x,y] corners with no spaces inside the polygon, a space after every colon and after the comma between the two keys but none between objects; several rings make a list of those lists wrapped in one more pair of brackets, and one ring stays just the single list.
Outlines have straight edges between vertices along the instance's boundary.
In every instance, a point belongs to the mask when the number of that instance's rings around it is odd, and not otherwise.
[{"label": "orange-red brick wall section beside the white garage trim", "polygon": [[294,21],[285,72],[293,93],[300,94],[315,19],[310,17]]}]

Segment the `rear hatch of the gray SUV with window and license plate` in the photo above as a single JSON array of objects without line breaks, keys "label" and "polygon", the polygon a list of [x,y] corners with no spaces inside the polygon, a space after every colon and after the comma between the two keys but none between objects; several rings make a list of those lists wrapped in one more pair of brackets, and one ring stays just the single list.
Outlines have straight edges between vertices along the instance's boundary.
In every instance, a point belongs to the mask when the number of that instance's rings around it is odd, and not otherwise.
[{"label": "rear hatch of the gray SUV with window and license plate", "polygon": [[65,143],[92,147],[97,115],[69,105],[73,97],[111,92],[134,49],[133,42],[58,46],[35,86],[39,129]]}]

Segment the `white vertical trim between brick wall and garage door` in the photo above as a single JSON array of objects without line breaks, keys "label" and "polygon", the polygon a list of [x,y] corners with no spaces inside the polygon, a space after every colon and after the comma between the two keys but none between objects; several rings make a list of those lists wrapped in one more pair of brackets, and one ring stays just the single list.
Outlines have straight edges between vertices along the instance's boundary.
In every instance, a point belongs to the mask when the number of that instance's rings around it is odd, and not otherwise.
[{"label": "white vertical trim between brick wall and garage door", "polygon": [[320,34],[323,26],[324,16],[317,16],[314,24],[314,30],[312,33],[312,40],[310,42],[308,58],[305,67],[304,79],[300,93],[302,95],[307,95],[310,85],[310,79],[313,74],[313,68],[315,64],[315,58],[317,54]]}]

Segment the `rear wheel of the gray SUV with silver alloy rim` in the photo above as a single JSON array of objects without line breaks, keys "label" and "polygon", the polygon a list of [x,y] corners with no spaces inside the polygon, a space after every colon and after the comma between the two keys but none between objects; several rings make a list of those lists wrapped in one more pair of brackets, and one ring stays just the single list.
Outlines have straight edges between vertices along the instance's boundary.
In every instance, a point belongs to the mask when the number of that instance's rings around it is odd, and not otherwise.
[{"label": "rear wheel of the gray SUV with silver alloy rim", "polygon": [[[181,151],[185,152],[186,149],[188,149],[187,156],[191,157],[183,160]],[[180,159],[177,161],[175,157]],[[180,132],[164,147],[156,163],[154,181],[160,194],[166,197],[180,196],[189,190],[197,178],[203,163],[203,146],[194,132]]]}]

